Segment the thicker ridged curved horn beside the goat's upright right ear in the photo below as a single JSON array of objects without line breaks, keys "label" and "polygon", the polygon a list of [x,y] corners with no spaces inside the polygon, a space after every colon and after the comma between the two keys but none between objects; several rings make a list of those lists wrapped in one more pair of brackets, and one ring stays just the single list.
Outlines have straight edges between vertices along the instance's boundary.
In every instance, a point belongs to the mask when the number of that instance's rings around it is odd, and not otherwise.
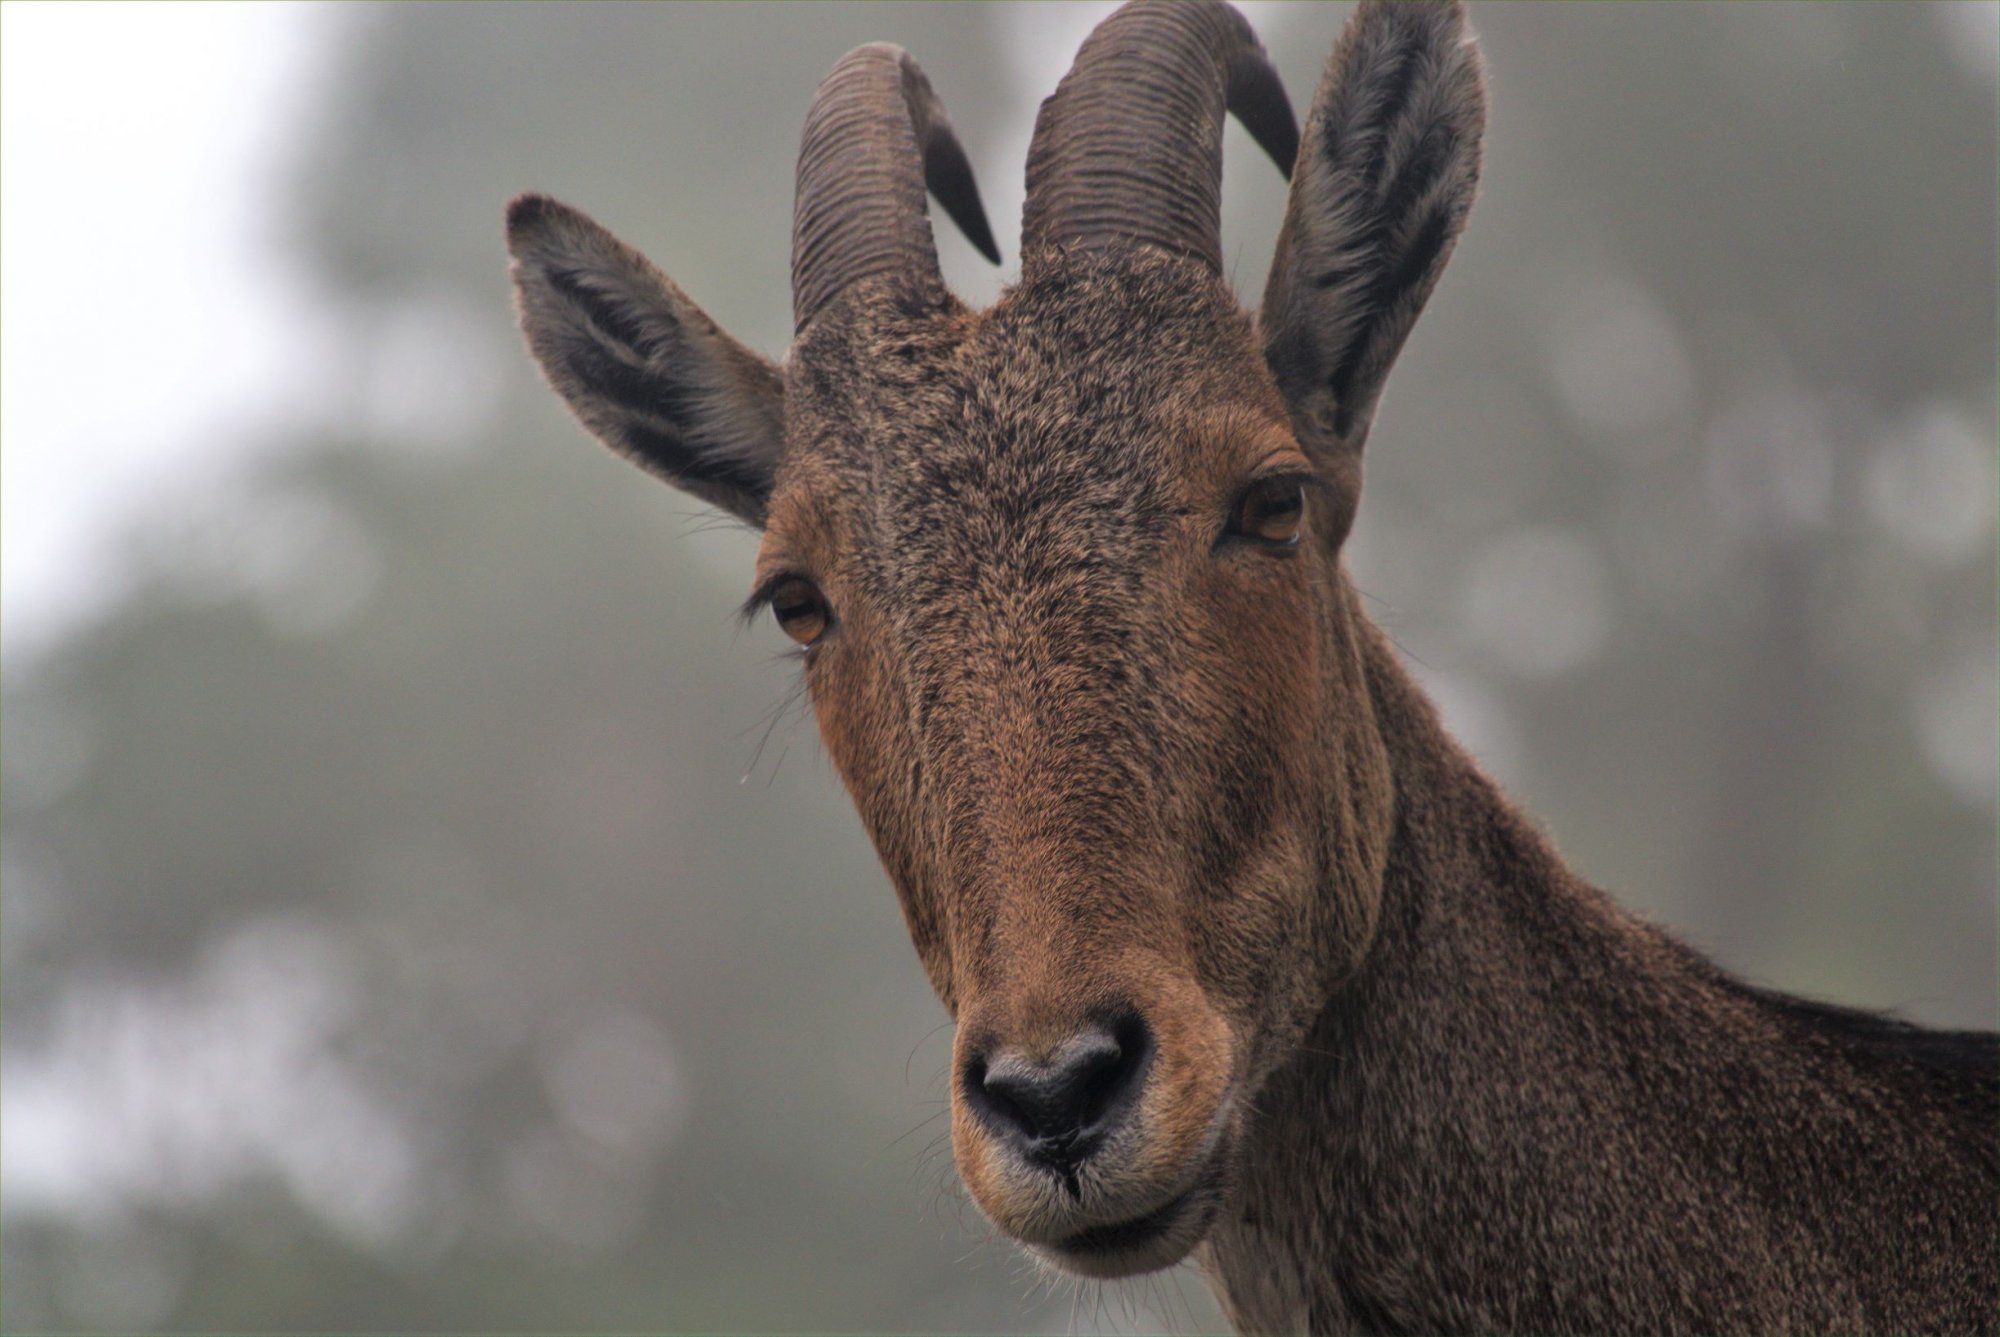
[{"label": "thicker ridged curved horn beside the goat's upright right ear", "polygon": [[1290,176],[1298,122],[1228,4],[1132,0],[1042,102],[1020,248],[1148,242],[1222,270],[1222,114]]}]

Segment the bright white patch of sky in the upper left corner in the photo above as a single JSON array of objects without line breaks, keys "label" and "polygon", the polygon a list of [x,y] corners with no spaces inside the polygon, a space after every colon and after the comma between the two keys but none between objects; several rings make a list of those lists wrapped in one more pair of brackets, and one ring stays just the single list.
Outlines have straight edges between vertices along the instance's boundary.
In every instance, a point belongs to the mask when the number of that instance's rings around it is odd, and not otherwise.
[{"label": "bright white patch of sky in the upper left corner", "polygon": [[0,640],[88,620],[112,538],[312,412],[324,338],[274,186],[322,6],[0,6]]}]

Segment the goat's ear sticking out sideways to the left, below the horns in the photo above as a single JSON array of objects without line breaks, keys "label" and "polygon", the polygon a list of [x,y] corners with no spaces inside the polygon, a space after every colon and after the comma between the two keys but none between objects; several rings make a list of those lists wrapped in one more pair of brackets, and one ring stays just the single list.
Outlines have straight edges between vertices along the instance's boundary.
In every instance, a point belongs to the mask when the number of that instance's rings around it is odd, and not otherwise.
[{"label": "goat's ear sticking out sideways to the left, below the horns", "polygon": [[778,368],[640,252],[540,194],[506,210],[514,292],[542,374],[598,440],[764,526],[784,448]]}]

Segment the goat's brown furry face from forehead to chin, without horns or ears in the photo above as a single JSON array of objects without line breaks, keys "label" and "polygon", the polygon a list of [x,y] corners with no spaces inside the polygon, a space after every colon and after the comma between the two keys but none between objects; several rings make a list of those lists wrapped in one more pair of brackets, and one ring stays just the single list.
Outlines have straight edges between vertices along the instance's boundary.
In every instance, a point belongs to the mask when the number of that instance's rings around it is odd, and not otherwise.
[{"label": "goat's brown furry face from forehead to chin, without horns or ears", "polygon": [[1318,895],[1358,693],[1328,664],[1330,484],[1182,258],[1086,252],[988,312],[822,328],[758,590],[812,606],[822,737],[958,1019],[960,1173],[1080,1271],[1170,1263],[1370,917],[1366,881]]}]

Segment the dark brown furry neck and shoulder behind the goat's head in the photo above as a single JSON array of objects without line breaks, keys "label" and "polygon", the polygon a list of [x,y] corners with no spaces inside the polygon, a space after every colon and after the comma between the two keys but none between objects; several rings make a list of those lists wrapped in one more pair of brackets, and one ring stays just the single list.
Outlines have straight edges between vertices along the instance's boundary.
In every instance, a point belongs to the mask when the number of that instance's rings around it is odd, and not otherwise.
[{"label": "dark brown furry neck and shoulder behind the goat's head", "polygon": [[1952,1037],[1724,977],[1564,869],[1380,636],[1366,658],[1382,915],[1256,1097],[1206,1253],[1236,1327],[1990,1323],[1990,1037],[1948,1077],[1898,1041]]}]

